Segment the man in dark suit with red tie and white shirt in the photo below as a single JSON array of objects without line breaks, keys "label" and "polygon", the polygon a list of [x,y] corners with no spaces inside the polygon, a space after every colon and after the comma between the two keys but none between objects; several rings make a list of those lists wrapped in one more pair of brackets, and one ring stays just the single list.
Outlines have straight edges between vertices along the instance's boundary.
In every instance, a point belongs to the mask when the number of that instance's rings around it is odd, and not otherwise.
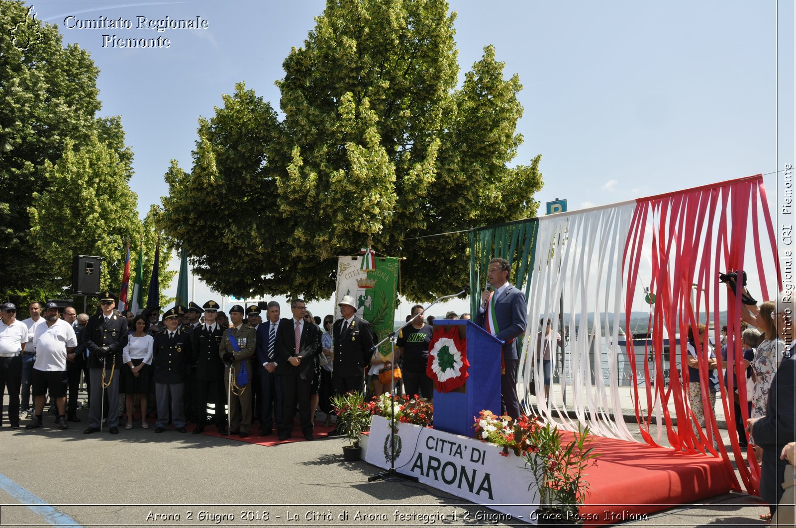
[{"label": "man in dark suit with red tie and white shirt", "polygon": [[304,319],[306,303],[303,299],[291,302],[291,319],[279,323],[276,340],[276,374],[281,377],[284,398],[283,422],[279,429],[279,440],[287,440],[293,430],[296,402],[301,432],[306,440],[312,440],[310,392],[315,375],[315,356],[321,353],[321,329]]}]

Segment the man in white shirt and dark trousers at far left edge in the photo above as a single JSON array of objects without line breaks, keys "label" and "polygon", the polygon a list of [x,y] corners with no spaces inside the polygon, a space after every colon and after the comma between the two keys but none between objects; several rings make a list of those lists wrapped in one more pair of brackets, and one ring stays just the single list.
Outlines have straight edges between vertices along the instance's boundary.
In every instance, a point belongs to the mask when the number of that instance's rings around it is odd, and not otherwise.
[{"label": "man in white shirt and dark trousers at far left edge", "polygon": [[[6,302],[0,306],[0,398],[8,387],[8,421],[11,429],[19,427],[19,386],[22,382],[21,353],[28,342],[28,327],[17,320],[17,307]],[[2,400],[0,400],[2,425]]]}]

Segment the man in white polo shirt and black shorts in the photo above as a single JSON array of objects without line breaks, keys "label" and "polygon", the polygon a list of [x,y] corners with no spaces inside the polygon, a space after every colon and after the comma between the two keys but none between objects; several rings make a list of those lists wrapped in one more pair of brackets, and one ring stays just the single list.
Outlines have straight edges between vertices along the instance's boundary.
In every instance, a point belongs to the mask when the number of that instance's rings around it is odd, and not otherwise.
[{"label": "man in white polo shirt and black shorts", "polygon": [[36,417],[25,429],[41,427],[41,414],[45,408],[45,394],[55,400],[58,408],[58,429],[69,429],[66,423],[66,356],[77,346],[77,338],[72,325],[58,318],[58,305],[49,302],[45,305],[45,324],[36,328],[33,337],[36,346],[36,363],[33,363],[33,405]]}]

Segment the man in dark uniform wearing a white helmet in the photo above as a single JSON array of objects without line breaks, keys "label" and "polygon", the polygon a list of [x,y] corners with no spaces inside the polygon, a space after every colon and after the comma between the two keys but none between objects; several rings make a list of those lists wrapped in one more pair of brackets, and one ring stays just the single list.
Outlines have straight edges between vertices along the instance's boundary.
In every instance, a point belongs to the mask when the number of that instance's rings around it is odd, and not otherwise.
[{"label": "man in dark uniform wearing a white helmet", "polygon": [[373,331],[368,321],[357,316],[353,297],[346,295],[338,306],[342,317],[334,321],[332,327],[334,394],[345,394],[350,390],[362,392],[365,366],[373,355]]}]

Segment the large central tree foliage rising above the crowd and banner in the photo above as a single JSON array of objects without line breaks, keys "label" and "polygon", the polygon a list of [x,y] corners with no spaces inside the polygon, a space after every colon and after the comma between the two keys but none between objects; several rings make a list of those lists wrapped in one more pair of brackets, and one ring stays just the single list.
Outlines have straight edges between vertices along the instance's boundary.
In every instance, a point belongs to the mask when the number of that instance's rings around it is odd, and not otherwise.
[{"label": "large central tree foliage rising above the crowd and banner", "polygon": [[[408,298],[457,291],[466,237],[413,237],[536,212],[540,157],[510,165],[519,79],[486,46],[457,89],[441,0],[330,0],[315,20],[283,64],[283,120],[242,85],[224,95],[191,173],[166,174],[162,227],[222,293],[329,297],[336,256],[369,241],[407,257]],[[220,211],[235,229],[214,236]]]}]

